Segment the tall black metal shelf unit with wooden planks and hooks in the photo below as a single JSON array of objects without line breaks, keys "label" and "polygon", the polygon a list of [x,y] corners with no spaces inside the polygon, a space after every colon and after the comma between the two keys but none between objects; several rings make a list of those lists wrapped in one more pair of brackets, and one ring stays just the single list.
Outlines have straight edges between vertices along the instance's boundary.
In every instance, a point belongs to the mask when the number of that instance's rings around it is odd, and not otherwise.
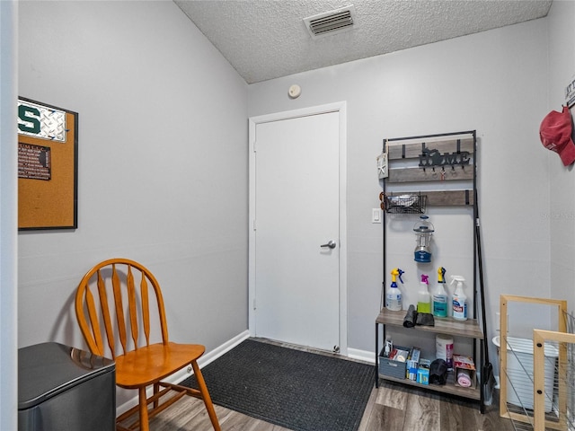
[{"label": "tall black metal shelf unit with wooden planks and hooks", "polygon": [[[481,370],[479,387],[465,391],[463,388],[428,388],[432,391],[452,393],[456,396],[479,400],[480,409],[484,411],[483,385],[486,383],[483,370],[487,361],[487,349],[484,334],[485,306],[482,283],[481,236],[479,234],[479,211],[477,202],[477,138],[475,130],[452,132],[437,135],[407,136],[384,140],[384,150],[380,156],[385,162],[380,163],[380,178],[383,191],[380,193],[381,208],[383,210],[383,284],[382,284],[382,311],[376,318],[376,386],[380,378],[387,378],[379,374],[379,325],[383,326],[385,339],[385,326],[402,326],[403,319],[397,318],[397,312],[385,309],[385,286],[388,285],[386,268],[386,214],[424,214],[427,207],[473,207],[473,318],[469,322],[451,320],[449,329],[456,335],[474,339],[473,358],[477,370]],[[394,191],[393,186],[400,191]],[[464,187],[461,186],[469,186]],[[391,190],[390,187],[391,186]],[[405,191],[406,187],[414,189]],[[422,190],[425,189],[425,190]],[[479,267],[479,268],[478,268]],[[478,290],[478,270],[480,289]],[[479,299],[479,301],[477,301]],[[478,308],[482,313],[482,329],[477,319]],[[401,312],[400,312],[401,313]],[[439,332],[443,323],[437,329],[423,329]],[[471,330],[470,330],[471,328]],[[479,342],[480,362],[477,363],[476,345]],[[397,379],[388,378],[398,382]],[[401,382],[413,384],[412,382]]]}]

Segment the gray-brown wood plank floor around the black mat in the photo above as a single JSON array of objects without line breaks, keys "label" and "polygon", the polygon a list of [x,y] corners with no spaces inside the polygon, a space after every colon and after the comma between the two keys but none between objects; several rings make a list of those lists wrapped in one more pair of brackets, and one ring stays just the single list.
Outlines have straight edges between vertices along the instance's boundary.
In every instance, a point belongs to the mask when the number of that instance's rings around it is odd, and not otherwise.
[{"label": "gray-brown wood plank floor around the black mat", "polygon": [[[346,360],[346,359],[342,359]],[[216,407],[222,431],[288,431],[287,428]],[[517,427],[517,424],[516,424]],[[209,431],[213,428],[200,400],[185,397],[150,421],[150,431]],[[500,418],[495,391],[485,413],[475,401],[382,381],[373,389],[358,431],[510,431],[509,419]],[[525,428],[519,428],[525,429]],[[322,430],[323,431],[323,430]],[[330,431],[330,430],[324,430]]]}]

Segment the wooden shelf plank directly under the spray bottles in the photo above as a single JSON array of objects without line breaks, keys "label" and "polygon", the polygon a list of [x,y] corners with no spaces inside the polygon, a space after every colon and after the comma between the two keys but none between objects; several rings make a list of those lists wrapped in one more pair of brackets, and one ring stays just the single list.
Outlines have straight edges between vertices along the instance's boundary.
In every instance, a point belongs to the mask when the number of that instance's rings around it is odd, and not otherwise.
[{"label": "wooden shelf plank directly under the spray bottles", "polygon": [[[384,308],[377,316],[376,323],[384,325],[403,327],[403,319],[406,311],[392,312]],[[456,337],[466,337],[470,339],[483,339],[483,332],[476,319],[466,321],[455,321],[451,318],[435,318],[435,326],[416,326],[412,330],[449,334]],[[407,329],[409,330],[409,329]]]}]

